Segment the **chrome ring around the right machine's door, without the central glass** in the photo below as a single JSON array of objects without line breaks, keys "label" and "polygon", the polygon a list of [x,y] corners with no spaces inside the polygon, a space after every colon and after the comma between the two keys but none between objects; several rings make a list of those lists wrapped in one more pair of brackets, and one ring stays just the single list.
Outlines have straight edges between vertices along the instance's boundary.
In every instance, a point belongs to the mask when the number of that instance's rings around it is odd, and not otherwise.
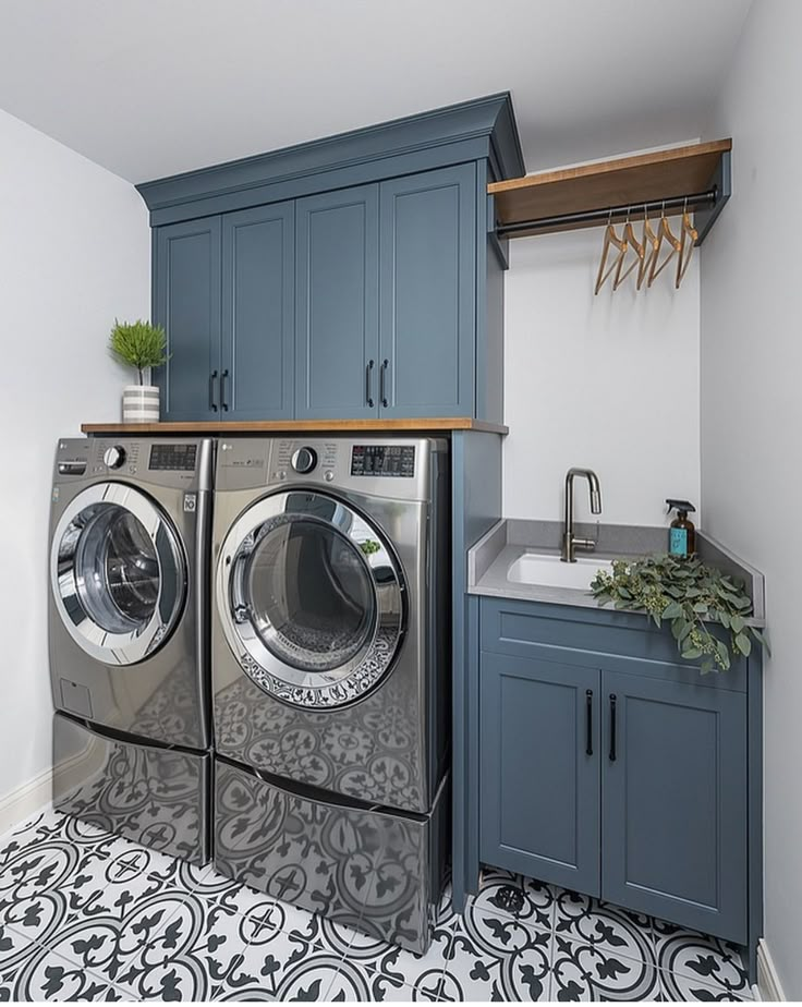
[{"label": "chrome ring around the right machine's door, without the central glass", "polygon": [[[303,510],[288,513],[287,504],[295,496],[333,504],[333,519],[326,521]],[[234,618],[232,589],[238,562],[243,562],[265,535],[294,521],[319,523],[349,539],[370,577],[376,605],[370,638],[357,655],[335,669],[314,671],[287,664],[268,648],[250,616],[245,621]],[[354,525],[366,527],[379,548],[365,555],[354,537]],[[382,580],[378,578],[379,571]],[[291,489],[272,494],[243,511],[222,543],[215,589],[226,640],[243,671],[265,692],[294,706],[342,706],[369,692],[389,670],[403,636],[403,575],[390,547],[363,514],[338,497],[317,490]]]}]

